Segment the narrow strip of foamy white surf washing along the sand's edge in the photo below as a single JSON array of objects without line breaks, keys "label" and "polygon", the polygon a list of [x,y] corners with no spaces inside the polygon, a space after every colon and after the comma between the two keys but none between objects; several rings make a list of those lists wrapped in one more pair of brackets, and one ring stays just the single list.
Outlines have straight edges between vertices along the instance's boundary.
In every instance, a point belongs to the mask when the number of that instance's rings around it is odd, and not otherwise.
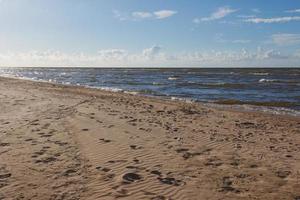
[{"label": "narrow strip of foamy white surf washing along the sand's edge", "polygon": [[291,109],[288,107],[280,107],[280,106],[264,106],[264,105],[254,105],[254,104],[228,104],[228,103],[218,103],[218,102],[204,102],[204,101],[197,101],[191,98],[184,98],[184,97],[175,97],[175,96],[155,96],[155,95],[148,95],[143,94],[138,91],[126,91],[120,88],[110,88],[110,87],[93,87],[93,86],[85,86],[85,85],[72,85],[72,84],[64,84],[64,83],[56,83],[50,82],[46,80],[34,80],[31,78],[26,77],[9,77],[9,76],[0,76],[0,78],[8,78],[8,79],[17,79],[17,80],[24,80],[24,81],[33,81],[38,83],[48,83],[54,84],[62,87],[79,87],[79,88],[86,88],[86,89],[95,89],[97,91],[103,92],[111,92],[111,93],[119,93],[119,94],[127,94],[133,95],[138,97],[145,97],[145,98],[153,98],[153,99],[160,99],[163,101],[173,101],[173,102],[183,102],[187,104],[195,104],[200,106],[208,106],[214,109],[221,109],[221,110],[233,110],[238,112],[259,112],[263,114],[269,115],[282,115],[282,116],[291,116],[291,117],[300,117],[300,111]]}]

